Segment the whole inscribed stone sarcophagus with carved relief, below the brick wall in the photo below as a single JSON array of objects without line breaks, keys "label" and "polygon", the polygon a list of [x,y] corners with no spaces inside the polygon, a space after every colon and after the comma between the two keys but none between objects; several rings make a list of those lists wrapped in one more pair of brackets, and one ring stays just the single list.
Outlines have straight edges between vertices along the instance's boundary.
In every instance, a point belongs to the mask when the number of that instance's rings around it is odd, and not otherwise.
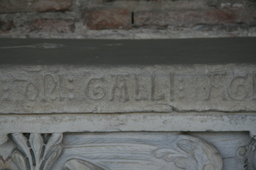
[{"label": "whole inscribed stone sarcophagus with carved relief, below the brick wall", "polygon": [[255,169],[255,46],[1,39],[0,169]]}]

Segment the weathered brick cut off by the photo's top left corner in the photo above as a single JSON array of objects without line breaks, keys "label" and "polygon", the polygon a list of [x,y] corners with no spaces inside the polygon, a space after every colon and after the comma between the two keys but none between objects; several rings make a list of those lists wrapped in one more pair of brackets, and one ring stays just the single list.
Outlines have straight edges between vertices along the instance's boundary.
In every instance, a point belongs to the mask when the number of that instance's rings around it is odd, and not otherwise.
[{"label": "weathered brick cut off by the photo's top left corner", "polygon": [[67,10],[73,0],[0,0],[0,13]]}]

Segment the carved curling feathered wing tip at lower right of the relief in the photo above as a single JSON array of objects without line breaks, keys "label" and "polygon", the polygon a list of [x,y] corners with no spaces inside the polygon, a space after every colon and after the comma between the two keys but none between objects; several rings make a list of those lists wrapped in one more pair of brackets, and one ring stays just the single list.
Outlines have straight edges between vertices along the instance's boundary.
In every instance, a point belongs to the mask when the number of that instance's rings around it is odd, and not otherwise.
[{"label": "carved curling feathered wing tip at lower right of the relief", "polygon": [[221,170],[222,158],[216,148],[206,141],[195,142],[181,139],[177,142],[180,151],[172,149],[158,149],[155,156],[166,162],[175,162],[175,165],[186,170]]}]

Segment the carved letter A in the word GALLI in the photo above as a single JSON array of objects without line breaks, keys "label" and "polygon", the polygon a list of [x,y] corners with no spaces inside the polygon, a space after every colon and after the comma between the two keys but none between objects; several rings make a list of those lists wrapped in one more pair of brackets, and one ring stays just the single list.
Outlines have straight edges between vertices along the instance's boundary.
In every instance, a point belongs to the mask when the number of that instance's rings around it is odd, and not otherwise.
[{"label": "carved letter A in the word GALLI", "polygon": [[[124,90],[124,95],[125,95],[124,101],[129,101],[127,85],[126,85],[126,80],[124,79],[124,76],[127,77],[127,76],[129,76],[129,74],[112,74],[111,75],[111,77],[115,77],[115,82],[114,82],[112,90],[111,90],[111,99],[110,99],[110,101],[114,100],[114,93],[115,93],[116,88],[118,88],[120,90],[120,92],[123,89]],[[119,80],[118,78],[121,79],[120,82],[122,82],[122,85],[118,84],[118,80]]]}]

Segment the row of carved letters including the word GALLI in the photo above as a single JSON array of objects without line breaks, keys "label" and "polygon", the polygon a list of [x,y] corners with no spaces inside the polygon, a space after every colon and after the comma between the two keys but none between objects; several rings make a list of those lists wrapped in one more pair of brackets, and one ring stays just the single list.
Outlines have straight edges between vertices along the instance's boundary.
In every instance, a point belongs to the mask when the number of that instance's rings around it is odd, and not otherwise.
[{"label": "row of carved letters including the word GALLI", "polygon": [[[209,100],[212,98],[212,91],[217,89],[221,91],[218,95],[222,98],[222,100],[243,100],[251,96],[252,100],[256,99],[256,74],[246,74],[245,76],[233,76],[228,78],[226,82],[223,80],[227,75],[226,72],[213,72],[208,74],[209,84],[205,87],[205,97],[201,100]],[[78,85],[74,77],[76,75],[63,75],[63,74],[52,74],[47,73],[41,75],[42,79],[39,81],[38,77],[40,75],[35,75],[37,79],[31,80],[28,77],[12,75],[12,81],[8,76],[2,76],[2,96],[5,100],[9,99],[9,96],[6,92],[10,90],[12,83],[15,82],[24,82],[24,94],[26,98],[30,101],[35,101],[39,97],[42,101],[55,101],[59,99],[59,101],[67,99],[72,100],[75,98],[75,88]],[[84,87],[84,89],[80,89],[79,91],[84,91],[85,96],[92,100],[101,100],[104,99],[106,94],[109,93],[109,101],[114,101],[117,96],[121,97],[123,101],[129,101],[134,98],[135,101],[161,101],[165,100],[166,96],[168,96],[168,101],[175,101],[175,95],[177,94],[180,99],[184,98],[184,87],[186,85],[184,83],[184,78],[179,75],[175,75],[173,72],[170,72],[164,75],[164,80],[168,80],[169,82],[165,84],[168,86],[169,91],[160,91],[161,83],[159,80],[156,81],[158,75],[156,74],[148,74],[146,79],[148,80],[146,84],[140,79],[141,74],[111,74],[111,75],[101,75],[101,76],[91,76],[90,78],[84,80],[84,85],[79,85],[78,88]],[[196,75],[197,76],[197,75]],[[248,80],[251,77],[252,88],[249,88]],[[129,78],[129,84],[127,84]],[[205,77],[207,78],[207,77]],[[7,81],[7,79],[9,79]],[[145,79],[145,76],[144,76]],[[159,79],[159,78],[158,78]],[[179,82],[181,85],[175,91],[175,81]],[[11,83],[12,82],[12,83]],[[108,83],[108,84],[105,84]],[[131,84],[134,84],[131,86]],[[156,83],[158,86],[156,86]],[[197,80],[197,84],[200,84],[200,81]],[[183,85],[182,85],[183,84]],[[148,91],[146,89],[142,89],[142,87],[151,88],[150,93],[145,93]],[[145,88],[144,87],[144,88]],[[21,88],[21,87],[20,87]],[[158,88],[158,91],[156,91]],[[191,87],[192,88],[192,87]],[[196,89],[198,91],[198,88]],[[130,94],[129,91],[134,92],[134,94]],[[143,92],[142,92],[143,91]],[[197,92],[198,93],[198,92]],[[151,96],[148,98],[148,96]],[[83,96],[84,97],[84,96]],[[200,100],[200,99],[197,99]]]}]

